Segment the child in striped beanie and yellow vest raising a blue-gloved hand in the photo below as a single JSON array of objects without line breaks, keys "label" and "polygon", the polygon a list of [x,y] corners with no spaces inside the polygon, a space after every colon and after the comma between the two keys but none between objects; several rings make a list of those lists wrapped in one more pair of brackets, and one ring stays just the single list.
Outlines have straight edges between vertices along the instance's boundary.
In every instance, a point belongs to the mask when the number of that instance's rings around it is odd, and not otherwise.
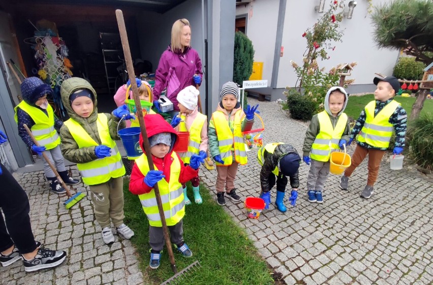
[{"label": "child in striped beanie and yellow vest raising a blue-gloved hand", "polygon": [[243,112],[239,104],[239,87],[235,82],[224,83],[220,92],[217,111],[209,121],[209,150],[217,165],[217,203],[225,205],[225,195],[233,201],[240,201],[236,194],[234,179],[238,165],[246,164],[246,150],[242,132],[250,131],[254,113],[259,105]]}]

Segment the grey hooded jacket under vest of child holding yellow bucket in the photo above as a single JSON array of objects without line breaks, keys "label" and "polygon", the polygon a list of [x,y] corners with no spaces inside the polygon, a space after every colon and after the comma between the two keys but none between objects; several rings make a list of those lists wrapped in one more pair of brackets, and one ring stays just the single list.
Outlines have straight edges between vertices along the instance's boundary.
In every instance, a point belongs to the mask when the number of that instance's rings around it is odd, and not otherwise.
[{"label": "grey hooded jacket under vest of child holding yellow bucket", "polygon": [[[329,109],[329,94],[334,90],[341,91],[343,94],[345,94],[345,97],[346,97],[346,99],[344,101],[343,108],[337,114],[336,117],[334,117],[332,115],[332,112]],[[324,107],[325,107],[326,113],[328,113],[329,118],[331,119],[331,123],[332,123],[332,126],[334,128],[335,128],[335,125],[337,124],[338,118],[340,117],[341,114],[344,113],[344,110],[346,109],[347,101],[348,101],[347,92],[343,87],[333,86],[333,87],[329,88],[328,92],[326,93],[325,102],[324,102],[325,106]],[[316,139],[316,136],[319,134],[319,132],[320,132],[320,123],[319,123],[318,116],[316,114],[313,116],[313,118],[311,118],[310,125],[308,126],[308,129],[305,133],[304,144],[302,146],[303,156],[308,156],[310,154],[311,146],[313,145],[313,142]],[[341,139],[349,141],[349,138],[350,138],[349,136],[350,136],[350,126],[349,126],[349,121],[348,121]]]}]

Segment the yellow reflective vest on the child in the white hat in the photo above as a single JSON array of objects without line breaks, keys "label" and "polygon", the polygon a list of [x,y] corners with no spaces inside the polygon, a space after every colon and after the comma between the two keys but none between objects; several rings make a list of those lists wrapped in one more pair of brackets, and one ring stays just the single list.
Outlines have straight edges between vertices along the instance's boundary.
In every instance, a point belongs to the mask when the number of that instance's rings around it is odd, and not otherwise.
[{"label": "yellow reflective vest on the child in the white hat", "polygon": [[191,156],[200,152],[199,147],[201,143],[201,130],[203,128],[204,122],[206,121],[206,116],[202,113],[197,113],[197,117],[191,124],[189,131],[187,130],[187,125],[185,124],[185,116],[181,115],[180,118],[183,120],[183,122],[179,123],[179,132],[190,132],[190,140],[188,142],[188,151],[180,152],[178,154],[183,163],[190,163]]}]

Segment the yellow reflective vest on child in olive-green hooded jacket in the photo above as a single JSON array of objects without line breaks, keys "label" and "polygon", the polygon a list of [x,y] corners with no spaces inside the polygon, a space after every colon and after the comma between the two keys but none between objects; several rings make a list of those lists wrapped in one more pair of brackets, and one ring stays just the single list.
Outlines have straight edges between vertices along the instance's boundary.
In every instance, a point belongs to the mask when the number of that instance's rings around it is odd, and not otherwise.
[{"label": "yellow reflective vest on child in olive-green hooded jacket", "polygon": [[[101,144],[111,148],[111,155],[88,163],[77,164],[83,182],[87,185],[101,184],[111,178],[123,176],[126,172],[116,142],[110,137],[107,116],[103,113],[98,114],[96,123]],[[68,127],[79,148],[99,145],[77,121],[69,119],[65,122],[65,125]]]}]

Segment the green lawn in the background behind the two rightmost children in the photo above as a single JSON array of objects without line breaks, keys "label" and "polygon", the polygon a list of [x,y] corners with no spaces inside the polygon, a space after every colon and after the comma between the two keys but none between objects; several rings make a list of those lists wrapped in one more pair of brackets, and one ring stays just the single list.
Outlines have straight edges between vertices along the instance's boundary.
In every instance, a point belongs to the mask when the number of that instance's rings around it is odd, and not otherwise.
[{"label": "green lawn in the background behind the two rightmost children", "polygon": [[[345,113],[352,117],[354,120],[358,119],[359,114],[361,113],[362,109],[365,107],[365,105],[368,104],[368,102],[374,100],[374,94],[366,94],[363,96],[351,96],[349,97],[349,101],[347,103]],[[412,105],[415,103],[415,97],[400,97],[397,96],[395,100],[401,104],[401,107],[403,107],[406,112],[408,113],[408,118],[411,115],[412,111]],[[433,114],[433,100],[426,99],[424,101],[424,107],[421,110],[421,116],[426,113],[432,113]]]}]

